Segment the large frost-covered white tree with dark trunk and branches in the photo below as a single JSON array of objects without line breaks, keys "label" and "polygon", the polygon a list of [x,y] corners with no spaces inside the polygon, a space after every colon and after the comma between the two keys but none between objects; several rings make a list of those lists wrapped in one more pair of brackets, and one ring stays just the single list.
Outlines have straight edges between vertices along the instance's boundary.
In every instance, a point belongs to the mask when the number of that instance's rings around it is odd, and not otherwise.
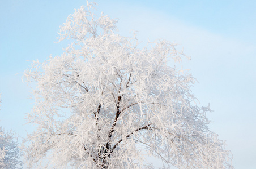
[{"label": "large frost-covered white tree with dark trunk and branches", "polygon": [[208,130],[210,108],[195,104],[195,79],[167,65],[185,56],[176,44],[138,47],[135,33],[118,35],[116,20],[92,10],[87,2],[67,17],[59,41],[72,42],[61,56],[32,61],[24,73],[37,84],[27,115],[37,130],[23,144],[28,166],[153,168],[147,153],[163,166],[232,167]]}]

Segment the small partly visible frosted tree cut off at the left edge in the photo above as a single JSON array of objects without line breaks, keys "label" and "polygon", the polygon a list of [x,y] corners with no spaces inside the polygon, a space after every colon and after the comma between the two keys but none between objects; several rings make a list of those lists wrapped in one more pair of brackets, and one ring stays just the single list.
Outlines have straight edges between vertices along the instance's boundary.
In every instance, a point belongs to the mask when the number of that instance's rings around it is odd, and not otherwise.
[{"label": "small partly visible frosted tree cut off at the left edge", "polygon": [[[1,94],[0,94],[1,106]],[[21,155],[18,148],[18,137],[14,131],[6,132],[0,127],[0,168],[22,168]]]}]

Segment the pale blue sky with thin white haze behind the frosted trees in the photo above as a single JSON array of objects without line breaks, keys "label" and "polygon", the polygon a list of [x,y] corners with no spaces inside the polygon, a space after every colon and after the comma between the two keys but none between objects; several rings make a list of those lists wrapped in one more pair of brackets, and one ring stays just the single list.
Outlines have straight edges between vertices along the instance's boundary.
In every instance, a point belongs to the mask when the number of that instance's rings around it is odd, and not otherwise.
[{"label": "pale blue sky with thin white haze behind the frosted trees", "polygon": [[[235,168],[256,159],[255,1],[96,1],[99,13],[118,18],[121,35],[138,30],[140,41],[162,38],[184,47],[184,69],[199,81],[193,88],[210,103],[210,129],[227,140]],[[25,136],[24,113],[33,106],[21,77],[29,61],[62,54],[59,25],[86,1],[2,1],[0,6],[0,125]],[[17,74],[17,75],[15,75]]]}]

